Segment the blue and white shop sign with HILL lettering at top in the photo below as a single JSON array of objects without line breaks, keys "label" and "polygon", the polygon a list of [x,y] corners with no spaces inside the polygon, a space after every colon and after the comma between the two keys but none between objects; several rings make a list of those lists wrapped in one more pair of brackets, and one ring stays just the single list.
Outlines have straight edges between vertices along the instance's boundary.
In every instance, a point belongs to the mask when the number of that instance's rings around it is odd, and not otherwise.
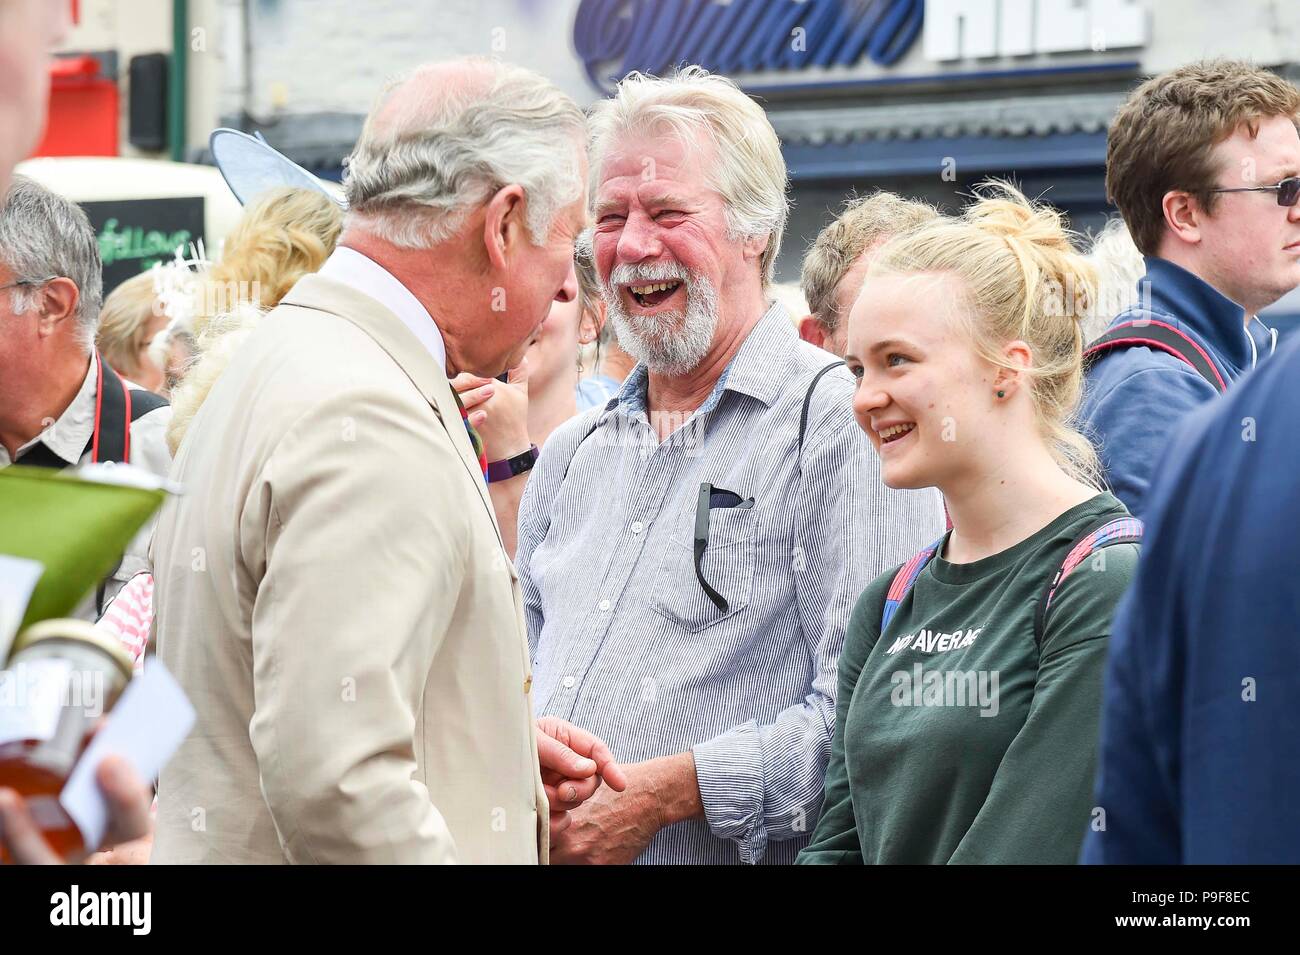
[{"label": "blue and white shop sign with HILL lettering at top", "polygon": [[1149,13],[1143,0],[582,0],[573,48],[603,92],[679,64],[816,82],[801,73],[893,66],[923,27],[924,73],[1015,57],[1032,61],[1009,66],[1036,71],[1060,65],[1043,55],[1145,45]]}]

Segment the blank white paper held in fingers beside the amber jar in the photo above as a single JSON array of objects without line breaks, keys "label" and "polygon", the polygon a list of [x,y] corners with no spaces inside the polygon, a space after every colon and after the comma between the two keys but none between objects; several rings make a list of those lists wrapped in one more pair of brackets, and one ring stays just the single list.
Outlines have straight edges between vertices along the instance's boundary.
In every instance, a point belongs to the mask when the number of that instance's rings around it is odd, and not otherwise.
[{"label": "blank white paper held in fingers beside the amber jar", "polygon": [[108,830],[108,802],[95,782],[104,758],[125,758],[144,782],[151,782],[191,726],[194,707],[185,690],[160,660],[150,657],[144,670],[126,685],[58,796],[88,848],[99,848]]}]

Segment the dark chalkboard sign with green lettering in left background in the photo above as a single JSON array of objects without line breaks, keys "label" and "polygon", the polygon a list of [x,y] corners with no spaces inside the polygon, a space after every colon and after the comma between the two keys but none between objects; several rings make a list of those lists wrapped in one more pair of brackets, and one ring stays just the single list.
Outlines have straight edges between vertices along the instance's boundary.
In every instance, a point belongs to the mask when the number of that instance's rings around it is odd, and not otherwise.
[{"label": "dark chalkboard sign with green lettering in left background", "polygon": [[81,203],[99,236],[104,260],[104,295],[176,256],[188,257],[190,243],[203,238],[203,196],[183,199],[114,199]]}]

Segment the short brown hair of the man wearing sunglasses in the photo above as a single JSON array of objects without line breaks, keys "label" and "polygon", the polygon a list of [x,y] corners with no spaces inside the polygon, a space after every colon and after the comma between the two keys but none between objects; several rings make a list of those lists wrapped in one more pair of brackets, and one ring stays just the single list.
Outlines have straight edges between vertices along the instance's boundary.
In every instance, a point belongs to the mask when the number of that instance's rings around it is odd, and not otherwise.
[{"label": "short brown hair of the man wearing sunglasses", "polygon": [[1212,190],[1222,172],[1214,147],[1243,125],[1253,136],[1260,120],[1296,120],[1300,91],[1248,62],[1205,60],[1148,79],[1110,122],[1106,195],[1119,209],[1134,243],[1147,256],[1165,235],[1165,195],[1180,190],[1213,213]]}]

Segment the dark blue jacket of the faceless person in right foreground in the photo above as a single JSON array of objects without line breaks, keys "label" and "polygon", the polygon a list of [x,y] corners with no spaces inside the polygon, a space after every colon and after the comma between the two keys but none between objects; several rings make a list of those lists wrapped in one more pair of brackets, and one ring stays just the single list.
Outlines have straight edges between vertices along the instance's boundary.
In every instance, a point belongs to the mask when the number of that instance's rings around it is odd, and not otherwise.
[{"label": "dark blue jacket of the faceless person in right foreground", "polygon": [[1160,461],[1110,634],[1086,863],[1300,863],[1297,420],[1300,340]]}]

